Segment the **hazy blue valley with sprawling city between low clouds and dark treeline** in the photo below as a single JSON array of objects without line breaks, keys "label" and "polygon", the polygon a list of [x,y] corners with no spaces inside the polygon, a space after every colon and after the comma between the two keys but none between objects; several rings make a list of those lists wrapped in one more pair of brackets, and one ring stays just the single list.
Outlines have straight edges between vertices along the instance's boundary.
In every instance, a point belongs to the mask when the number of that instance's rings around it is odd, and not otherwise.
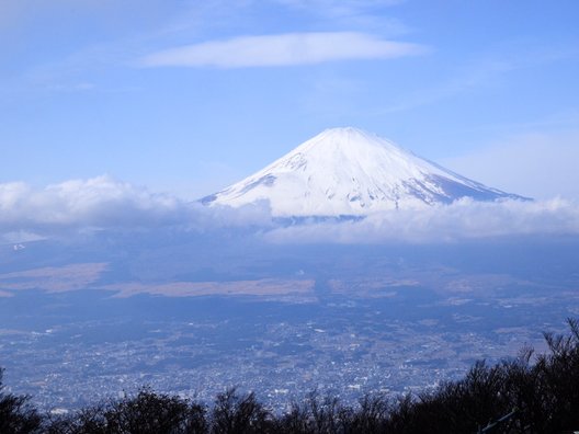
[{"label": "hazy blue valley with sprawling city between low clouds and dark treeline", "polygon": [[[20,270],[0,273],[10,390],[56,412],[140,387],[207,403],[238,387],[275,411],[314,390],[353,403],[366,392],[428,391],[524,346],[541,352],[544,331],[579,315],[579,276],[566,269],[575,253],[549,260],[556,243],[516,266],[508,243],[245,245],[238,254],[231,244],[195,248],[193,237],[135,256],[121,244],[2,251]],[[227,272],[212,262],[226,251]]]}]

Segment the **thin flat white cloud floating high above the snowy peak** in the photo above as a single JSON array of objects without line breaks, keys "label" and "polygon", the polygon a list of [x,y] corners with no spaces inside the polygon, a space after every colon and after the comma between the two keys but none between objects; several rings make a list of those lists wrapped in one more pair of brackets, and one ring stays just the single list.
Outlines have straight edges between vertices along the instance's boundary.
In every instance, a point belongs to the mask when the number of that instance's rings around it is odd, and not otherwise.
[{"label": "thin flat white cloud floating high above the snowy peak", "polygon": [[387,59],[416,56],[425,46],[385,41],[357,32],[287,33],[239,36],[152,53],[145,67],[282,67],[337,60]]}]

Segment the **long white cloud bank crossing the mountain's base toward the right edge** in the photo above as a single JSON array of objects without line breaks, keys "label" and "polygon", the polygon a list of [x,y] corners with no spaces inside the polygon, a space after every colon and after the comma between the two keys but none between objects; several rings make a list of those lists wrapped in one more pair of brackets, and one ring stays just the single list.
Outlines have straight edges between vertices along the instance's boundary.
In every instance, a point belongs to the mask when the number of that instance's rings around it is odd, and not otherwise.
[{"label": "long white cloud bank crossing the mountain's base toward the right edge", "polygon": [[393,210],[359,221],[318,222],[276,228],[265,235],[276,243],[455,242],[510,236],[579,235],[579,204],[456,201],[421,210]]}]

